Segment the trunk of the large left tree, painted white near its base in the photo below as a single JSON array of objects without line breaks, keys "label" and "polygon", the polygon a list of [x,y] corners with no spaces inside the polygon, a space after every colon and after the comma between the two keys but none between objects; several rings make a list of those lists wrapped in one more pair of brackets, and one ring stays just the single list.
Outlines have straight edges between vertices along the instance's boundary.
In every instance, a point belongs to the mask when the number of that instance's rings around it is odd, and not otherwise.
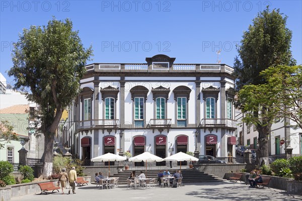
[{"label": "trunk of the large left tree, painted white near its base", "polygon": [[43,160],[43,177],[47,177],[52,174],[52,159],[53,159],[53,141],[54,133],[44,134],[44,153],[42,156]]}]

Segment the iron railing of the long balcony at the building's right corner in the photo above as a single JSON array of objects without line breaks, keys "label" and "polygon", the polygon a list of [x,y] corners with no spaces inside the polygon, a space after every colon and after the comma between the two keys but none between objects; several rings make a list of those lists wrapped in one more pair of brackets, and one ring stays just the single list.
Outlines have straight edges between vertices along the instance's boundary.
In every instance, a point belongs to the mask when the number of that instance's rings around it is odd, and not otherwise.
[{"label": "iron railing of the long balcony at the building's right corner", "polygon": [[199,125],[200,128],[237,128],[235,120],[231,119],[202,119]]}]

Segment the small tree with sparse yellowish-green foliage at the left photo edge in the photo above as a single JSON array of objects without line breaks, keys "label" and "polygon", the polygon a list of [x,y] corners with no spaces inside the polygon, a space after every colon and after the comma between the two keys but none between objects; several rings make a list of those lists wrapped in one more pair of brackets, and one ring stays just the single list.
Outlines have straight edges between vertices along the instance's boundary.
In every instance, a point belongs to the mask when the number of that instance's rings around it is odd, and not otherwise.
[{"label": "small tree with sparse yellowish-green foliage at the left photo edge", "polygon": [[0,124],[0,149],[4,148],[6,143],[10,143],[11,140],[18,140],[16,133],[13,133],[13,126],[8,121],[1,121]]}]

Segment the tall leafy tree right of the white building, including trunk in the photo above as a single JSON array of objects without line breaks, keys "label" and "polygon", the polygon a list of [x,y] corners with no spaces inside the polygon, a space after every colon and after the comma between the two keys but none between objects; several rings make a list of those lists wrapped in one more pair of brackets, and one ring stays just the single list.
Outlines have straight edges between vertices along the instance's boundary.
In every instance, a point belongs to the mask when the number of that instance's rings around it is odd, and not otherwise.
[{"label": "tall leafy tree right of the white building, including trunk", "polygon": [[[259,133],[257,157],[261,164],[267,166],[269,166],[267,142],[276,110],[266,106],[274,105],[273,100],[269,99],[274,95],[269,91],[271,86],[261,88],[257,85],[266,83],[265,78],[260,75],[262,70],[270,66],[295,64],[290,51],[292,33],[286,28],[286,20],[287,17],[283,17],[279,10],[270,11],[267,7],[260,12],[253,19],[253,25],[244,32],[241,46],[238,48],[239,57],[236,57],[234,62],[235,88],[237,91],[244,90],[239,92],[236,105],[243,109],[242,112],[247,113],[243,122],[255,125]],[[248,97],[249,95],[254,96]],[[269,103],[265,104],[266,102]]]}]

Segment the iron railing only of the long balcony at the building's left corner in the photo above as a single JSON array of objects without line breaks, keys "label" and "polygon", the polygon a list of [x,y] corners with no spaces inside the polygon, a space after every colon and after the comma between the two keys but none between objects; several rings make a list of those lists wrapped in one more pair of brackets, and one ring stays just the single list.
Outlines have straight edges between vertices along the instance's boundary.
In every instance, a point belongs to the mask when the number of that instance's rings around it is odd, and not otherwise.
[{"label": "iron railing only of the long balcony at the building's left corner", "polygon": [[119,120],[118,119],[99,119],[99,120],[86,120],[86,121],[79,121],[78,128],[79,129],[89,129],[89,128],[115,128],[119,127]]}]

